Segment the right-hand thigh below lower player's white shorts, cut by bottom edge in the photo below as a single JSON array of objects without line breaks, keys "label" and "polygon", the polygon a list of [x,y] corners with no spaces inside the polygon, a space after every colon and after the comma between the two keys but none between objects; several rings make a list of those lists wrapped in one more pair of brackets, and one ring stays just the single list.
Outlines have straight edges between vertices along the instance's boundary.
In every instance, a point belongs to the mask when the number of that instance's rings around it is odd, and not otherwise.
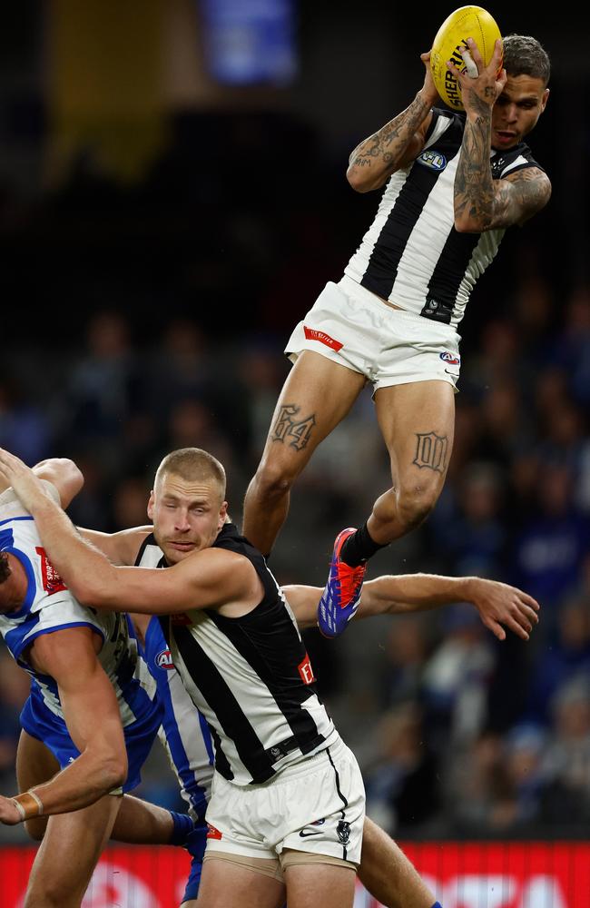
[{"label": "right-hand thigh below lower player's white shorts, cut by bottom edge", "polygon": [[294,864],[284,869],[289,908],[351,908],[356,873],[336,864]]}]

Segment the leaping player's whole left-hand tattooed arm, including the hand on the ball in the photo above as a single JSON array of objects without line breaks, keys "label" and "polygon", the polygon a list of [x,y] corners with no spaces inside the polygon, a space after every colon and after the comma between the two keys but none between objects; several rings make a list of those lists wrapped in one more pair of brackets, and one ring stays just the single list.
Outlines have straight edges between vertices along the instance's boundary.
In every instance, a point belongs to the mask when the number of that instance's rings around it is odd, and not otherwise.
[{"label": "leaping player's whole left-hand tattooed arm, including the hand on the ball", "polygon": [[424,84],[412,103],[379,132],[359,143],[349,157],[347,180],[357,192],[379,189],[392,173],[413,161],[424,148],[425,135],[438,92],[430,73],[430,54],[420,54]]}]

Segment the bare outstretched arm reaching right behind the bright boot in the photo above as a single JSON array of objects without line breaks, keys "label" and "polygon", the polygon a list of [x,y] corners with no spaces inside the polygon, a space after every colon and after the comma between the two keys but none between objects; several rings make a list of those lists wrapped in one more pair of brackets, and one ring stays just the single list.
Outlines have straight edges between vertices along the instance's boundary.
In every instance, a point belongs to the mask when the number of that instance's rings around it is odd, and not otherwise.
[{"label": "bare outstretched arm reaching right behind the bright boot", "polygon": [[[321,587],[283,587],[300,627],[315,627]],[[427,611],[456,602],[470,602],[499,640],[505,627],[527,640],[538,622],[539,605],[516,587],[482,577],[442,577],[437,574],[384,575],[367,580],[353,621],[375,615]]]}]

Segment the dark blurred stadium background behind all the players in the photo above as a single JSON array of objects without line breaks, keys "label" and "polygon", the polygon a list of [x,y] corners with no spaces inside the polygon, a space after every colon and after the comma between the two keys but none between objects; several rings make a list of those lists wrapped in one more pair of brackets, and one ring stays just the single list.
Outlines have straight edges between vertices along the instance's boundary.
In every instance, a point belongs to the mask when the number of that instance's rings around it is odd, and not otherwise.
[{"label": "dark blurred stadium background behind all the players", "polygon": [[[325,281],[338,280],[376,208],[377,194],[346,183],[349,152],[411,101],[418,54],[452,8],[5,8],[0,445],[31,464],[79,463],[86,484],[70,509],[79,525],[143,523],[159,459],[187,444],[224,462],[240,523],[288,370],[284,341]],[[538,598],[541,624],[527,644],[498,644],[457,603],[365,622],[333,643],[309,632],[307,642],[359,756],[369,813],[418,849],[433,879],[440,855],[457,854],[437,879],[479,880],[460,897],[445,883],[446,908],[585,908],[590,68],[554,10],[489,9],[504,34],[536,35],[551,55],[552,94],[530,144],[553,197],[506,234],[462,322],[457,439],[438,506],[371,561],[369,576],[496,577]],[[358,524],[387,483],[367,393],[299,480],[271,560],[279,580],[323,585],[334,535]],[[10,794],[26,682],[5,652],[0,678],[0,790]],[[179,806],[163,755],[150,758],[138,794]],[[530,841],[546,844],[538,852]],[[475,851],[451,844],[461,842]],[[3,827],[6,869],[12,844],[25,867],[23,830]],[[156,889],[170,861],[150,862]]]}]

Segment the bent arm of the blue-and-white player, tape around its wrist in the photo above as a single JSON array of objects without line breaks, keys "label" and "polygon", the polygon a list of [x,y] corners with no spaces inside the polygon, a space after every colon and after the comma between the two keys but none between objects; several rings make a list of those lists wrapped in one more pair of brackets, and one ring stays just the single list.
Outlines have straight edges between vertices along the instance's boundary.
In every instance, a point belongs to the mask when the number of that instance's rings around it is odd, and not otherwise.
[{"label": "bent arm of the blue-and-white player, tape around its wrist", "polygon": [[0,798],[0,821],[13,825],[38,815],[64,814],[98,801],[123,785],[127,755],[113,685],[93,646],[90,627],[69,627],[36,637],[29,661],[57,682],[65,724],[80,751],[44,785]]}]

